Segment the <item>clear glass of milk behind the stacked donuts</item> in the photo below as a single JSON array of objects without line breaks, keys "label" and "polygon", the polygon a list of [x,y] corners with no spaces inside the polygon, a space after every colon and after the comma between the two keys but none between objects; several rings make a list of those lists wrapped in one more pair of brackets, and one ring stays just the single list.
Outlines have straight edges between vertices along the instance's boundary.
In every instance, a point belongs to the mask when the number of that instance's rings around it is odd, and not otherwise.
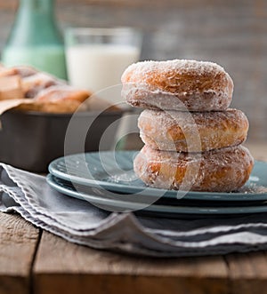
[{"label": "clear glass of milk behind the stacked donuts", "polygon": [[[69,28],[65,45],[69,83],[101,94],[139,60],[142,36],[134,28]],[[119,102],[120,94],[112,99]]]}]

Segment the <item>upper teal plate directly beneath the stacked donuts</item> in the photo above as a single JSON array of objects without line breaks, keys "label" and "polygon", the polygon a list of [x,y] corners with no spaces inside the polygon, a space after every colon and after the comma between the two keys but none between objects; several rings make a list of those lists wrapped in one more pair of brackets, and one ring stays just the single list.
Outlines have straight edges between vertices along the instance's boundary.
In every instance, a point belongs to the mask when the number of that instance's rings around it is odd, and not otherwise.
[{"label": "upper teal plate directly beneath the stacked donuts", "polygon": [[[133,171],[133,159],[136,154],[136,151],[117,151],[116,153],[108,151],[69,155],[50,163],[49,171],[53,176],[75,184],[101,187],[117,193],[179,198],[180,192],[146,187],[140,179],[136,179]],[[237,192],[190,191],[182,199],[227,202],[265,201],[267,200],[267,163],[256,161],[247,184]]]}]

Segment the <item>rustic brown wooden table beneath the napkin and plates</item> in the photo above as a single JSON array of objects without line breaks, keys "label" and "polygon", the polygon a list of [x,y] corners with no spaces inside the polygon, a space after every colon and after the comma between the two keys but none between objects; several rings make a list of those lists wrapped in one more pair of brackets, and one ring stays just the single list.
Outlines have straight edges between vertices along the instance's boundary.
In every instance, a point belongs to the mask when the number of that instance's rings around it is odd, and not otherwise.
[{"label": "rustic brown wooden table beneath the napkin and plates", "polygon": [[[248,144],[267,160],[267,144]],[[265,293],[266,252],[140,258],[92,250],[0,214],[0,294]]]}]

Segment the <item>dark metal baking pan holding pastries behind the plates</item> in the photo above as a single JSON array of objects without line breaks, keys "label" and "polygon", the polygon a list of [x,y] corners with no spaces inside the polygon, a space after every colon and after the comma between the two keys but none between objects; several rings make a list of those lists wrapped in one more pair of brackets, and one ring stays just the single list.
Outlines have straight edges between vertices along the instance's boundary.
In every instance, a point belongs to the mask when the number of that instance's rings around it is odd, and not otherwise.
[{"label": "dark metal baking pan holding pastries behind the plates", "polygon": [[[7,111],[0,117],[0,162],[8,163],[27,171],[46,172],[53,159],[80,152],[99,150],[102,133],[105,135],[105,149],[109,149],[117,131],[114,123],[123,111],[81,112],[72,118],[73,144],[65,150],[64,140],[72,114],[46,114],[38,112]],[[89,124],[88,124],[89,123]],[[76,144],[79,133],[86,130],[85,144]],[[103,150],[103,148],[101,148]]]}]

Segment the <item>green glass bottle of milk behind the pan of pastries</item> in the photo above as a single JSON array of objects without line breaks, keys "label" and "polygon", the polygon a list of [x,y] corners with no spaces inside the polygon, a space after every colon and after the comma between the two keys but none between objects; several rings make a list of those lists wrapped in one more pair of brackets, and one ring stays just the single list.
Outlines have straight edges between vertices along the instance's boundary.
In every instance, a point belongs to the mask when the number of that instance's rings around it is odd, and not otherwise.
[{"label": "green glass bottle of milk behind the pan of pastries", "polygon": [[64,46],[53,7],[53,0],[20,0],[2,53],[5,66],[29,65],[67,79]]}]

